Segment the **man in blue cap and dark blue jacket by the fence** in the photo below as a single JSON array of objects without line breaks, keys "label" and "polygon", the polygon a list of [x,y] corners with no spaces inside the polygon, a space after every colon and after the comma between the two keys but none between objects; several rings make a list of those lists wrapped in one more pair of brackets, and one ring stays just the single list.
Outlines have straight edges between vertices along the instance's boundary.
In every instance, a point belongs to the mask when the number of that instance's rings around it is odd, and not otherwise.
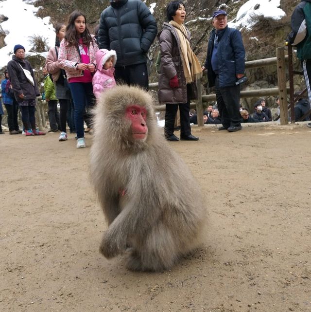
[{"label": "man in blue cap and dark blue jacket by the fence", "polygon": [[208,86],[215,86],[217,107],[223,126],[219,130],[234,132],[242,129],[240,115],[240,84],[244,75],[245,49],[241,33],[227,25],[227,13],[213,13],[214,29],[207,44]]}]

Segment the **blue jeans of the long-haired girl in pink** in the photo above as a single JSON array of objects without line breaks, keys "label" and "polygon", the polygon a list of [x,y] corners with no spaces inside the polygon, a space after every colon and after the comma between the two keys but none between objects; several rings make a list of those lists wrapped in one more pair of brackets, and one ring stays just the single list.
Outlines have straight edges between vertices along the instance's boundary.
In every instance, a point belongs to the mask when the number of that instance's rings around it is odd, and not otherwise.
[{"label": "blue jeans of the long-haired girl in pink", "polygon": [[[74,123],[76,126],[77,138],[84,138],[84,115],[85,110],[89,111],[96,105],[96,98],[93,93],[91,82],[69,83],[72,100],[74,104]],[[90,122],[90,114],[86,115],[86,124]]]}]

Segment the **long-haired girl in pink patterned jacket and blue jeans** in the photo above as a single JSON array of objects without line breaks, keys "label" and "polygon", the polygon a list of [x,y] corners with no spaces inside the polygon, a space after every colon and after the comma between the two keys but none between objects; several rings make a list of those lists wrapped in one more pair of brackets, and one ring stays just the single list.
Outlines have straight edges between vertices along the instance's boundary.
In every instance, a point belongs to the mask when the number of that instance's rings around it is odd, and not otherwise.
[{"label": "long-haired girl in pink patterned jacket and blue jeans", "polygon": [[[86,27],[86,17],[79,11],[69,16],[66,35],[59,47],[58,63],[66,71],[74,103],[74,121],[77,132],[77,148],[86,147],[84,138],[84,115],[95,104],[92,74],[96,71],[95,55],[98,45]],[[91,123],[87,113],[86,124]]]}]

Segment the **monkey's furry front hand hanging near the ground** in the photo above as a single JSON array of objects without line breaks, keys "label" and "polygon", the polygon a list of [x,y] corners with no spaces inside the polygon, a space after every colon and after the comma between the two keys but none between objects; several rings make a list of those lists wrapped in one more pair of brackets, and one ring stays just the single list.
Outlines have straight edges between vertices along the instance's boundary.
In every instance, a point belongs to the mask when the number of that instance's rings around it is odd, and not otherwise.
[{"label": "monkey's furry front hand hanging near the ground", "polygon": [[126,240],[108,229],[104,233],[99,250],[107,259],[116,257],[126,250]]}]

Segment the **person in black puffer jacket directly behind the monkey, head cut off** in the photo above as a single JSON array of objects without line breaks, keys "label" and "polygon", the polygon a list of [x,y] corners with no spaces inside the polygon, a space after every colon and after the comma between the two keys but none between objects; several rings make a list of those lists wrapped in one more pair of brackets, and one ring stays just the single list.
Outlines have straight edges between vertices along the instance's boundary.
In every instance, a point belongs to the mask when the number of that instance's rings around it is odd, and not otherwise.
[{"label": "person in black puffer jacket directly behind the monkey, head cut off", "polygon": [[98,44],[115,50],[115,77],[148,90],[147,52],[155,39],[155,18],[140,0],[110,0],[101,14]]}]

